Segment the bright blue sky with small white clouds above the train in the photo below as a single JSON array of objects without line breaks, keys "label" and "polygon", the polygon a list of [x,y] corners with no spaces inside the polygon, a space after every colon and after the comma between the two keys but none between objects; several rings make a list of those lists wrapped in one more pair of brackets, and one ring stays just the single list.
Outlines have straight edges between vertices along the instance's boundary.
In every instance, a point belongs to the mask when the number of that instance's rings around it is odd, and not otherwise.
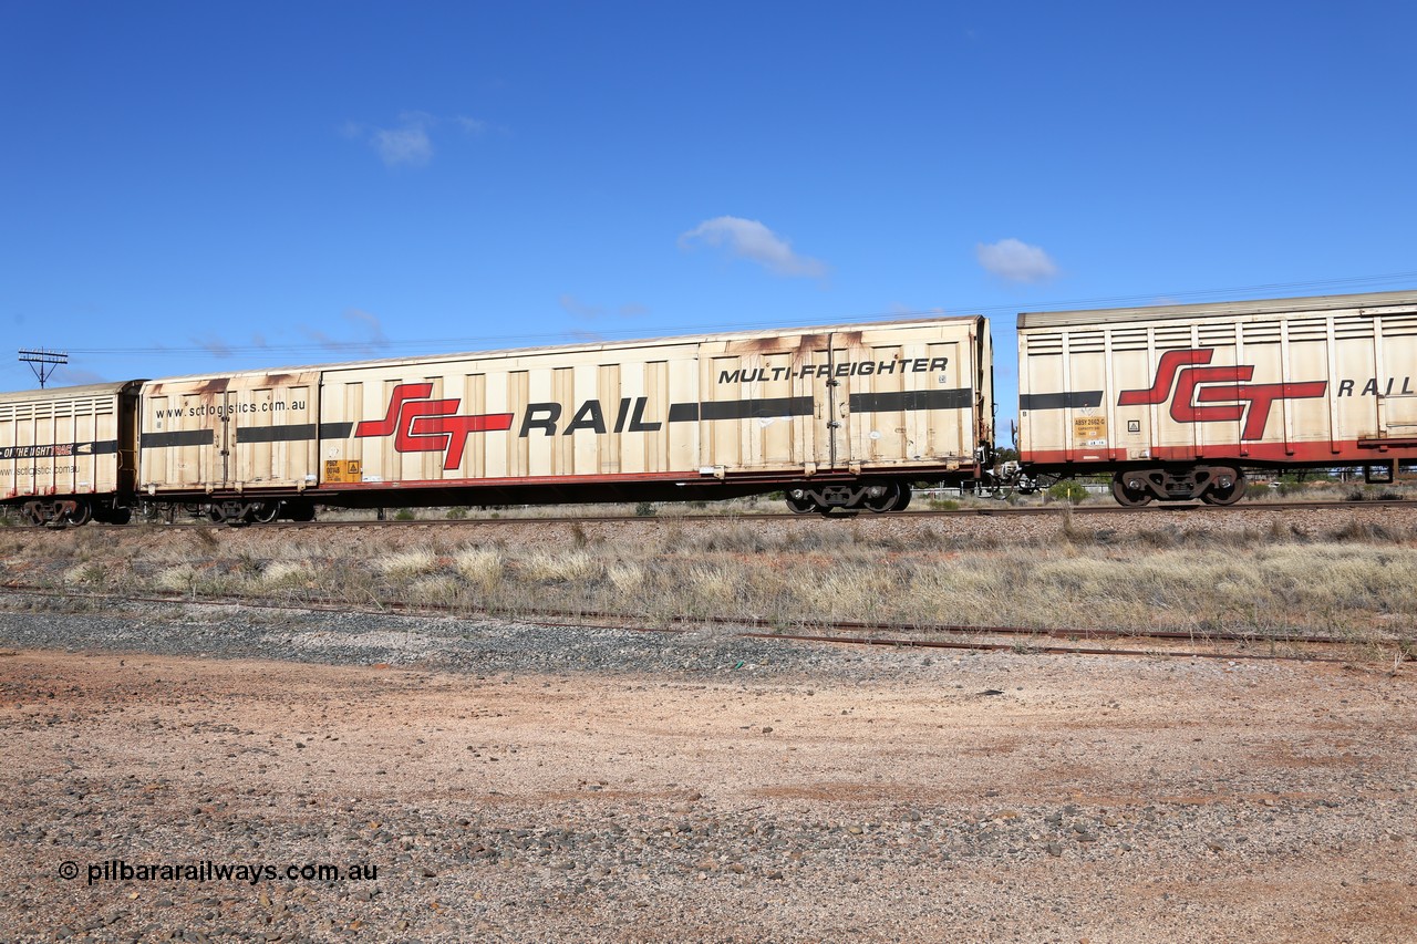
[{"label": "bright blue sky with small white clouds above the train", "polygon": [[1407,3],[0,0],[0,326],[88,383],[985,313],[1007,429],[1015,312],[1417,288],[1414,34]]}]

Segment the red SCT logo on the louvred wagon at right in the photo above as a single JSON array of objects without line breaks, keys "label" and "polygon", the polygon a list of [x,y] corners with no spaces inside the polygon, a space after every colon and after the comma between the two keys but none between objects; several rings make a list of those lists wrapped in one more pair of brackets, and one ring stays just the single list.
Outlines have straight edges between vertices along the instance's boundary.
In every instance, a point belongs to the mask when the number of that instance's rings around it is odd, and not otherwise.
[{"label": "red SCT logo on the louvred wagon at right", "polygon": [[1326,380],[1251,384],[1253,364],[1196,366],[1209,364],[1214,353],[1213,349],[1166,352],[1156,364],[1156,380],[1151,388],[1124,390],[1117,405],[1141,407],[1170,400],[1170,418],[1176,422],[1236,422],[1243,418],[1240,438],[1261,439],[1275,400],[1322,397],[1328,390]]}]

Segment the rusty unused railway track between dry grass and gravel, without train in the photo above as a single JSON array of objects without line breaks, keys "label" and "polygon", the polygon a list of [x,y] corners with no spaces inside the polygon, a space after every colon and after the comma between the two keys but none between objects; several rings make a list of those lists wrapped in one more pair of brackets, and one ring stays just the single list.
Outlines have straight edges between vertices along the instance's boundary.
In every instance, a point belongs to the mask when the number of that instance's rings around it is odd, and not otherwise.
[{"label": "rusty unused railway track between dry grass and gravel, without train", "polygon": [[[791,629],[765,619],[745,617],[676,617],[667,625],[646,626],[642,621],[614,612],[571,612],[548,608],[519,608],[513,612],[489,612],[439,604],[378,602],[351,605],[349,601],[306,598],[300,601],[268,601],[249,597],[190,597],[184,594],[103,594],[55,590],[37,584],[10,581],[0,584],[7,592],[31,597],[86,600],[103,604],[162,604],[201,607],[242,607],[248,609],[302,612],[357,612],[363,615],[408,615],[490,618],[533,621],[561,628],[621,629],[649,634],[689,634],[706,626],[752,639],[832,644],[843,646],[888,646],[915,649],[1012,651],[1019,653],[1095,655],[1131,658],[1190,658],[1246,659],[1291,662],[1348,662],[1345,649],[1359,644],[1348,639],[1314,635],[1281,634],[1257,635],[1236,632],[1151,631],[1124,632],[1102,628],[1039,628],[1039,626],[964,626],[921,622],[857,622],[832,621],[811,624],[812,631]],[[1397,645],[1397,641],[1391,641]],[[1372,644],[1366,644],[1372,648]],[[1399,661],[1411,653],[1399,649]]]}]

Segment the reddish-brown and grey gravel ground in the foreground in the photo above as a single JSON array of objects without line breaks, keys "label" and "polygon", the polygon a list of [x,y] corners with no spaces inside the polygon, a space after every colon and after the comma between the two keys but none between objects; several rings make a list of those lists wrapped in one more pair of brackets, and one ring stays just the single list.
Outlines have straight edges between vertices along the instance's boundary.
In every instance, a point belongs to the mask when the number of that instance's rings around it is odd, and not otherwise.
[{"label": "reddish-brown and grey gravel ground in the foreground", "polygon": [[1410,665],[21,595],[0,646],[6,938],[1417,940]]}]

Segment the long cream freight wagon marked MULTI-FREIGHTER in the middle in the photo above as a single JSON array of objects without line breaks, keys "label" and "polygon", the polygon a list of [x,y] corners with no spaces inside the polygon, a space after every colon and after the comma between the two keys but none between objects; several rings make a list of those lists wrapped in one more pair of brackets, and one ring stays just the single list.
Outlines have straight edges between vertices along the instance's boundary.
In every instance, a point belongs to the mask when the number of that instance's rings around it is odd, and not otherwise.
[{"label": "long cream freight wagon marked MULTI-FREIGHTER in the middle", "polygon": [[215,517],[728,498],[891,510],[988,468],[982,318],[179,377],[143,387],[140,492]]}]

